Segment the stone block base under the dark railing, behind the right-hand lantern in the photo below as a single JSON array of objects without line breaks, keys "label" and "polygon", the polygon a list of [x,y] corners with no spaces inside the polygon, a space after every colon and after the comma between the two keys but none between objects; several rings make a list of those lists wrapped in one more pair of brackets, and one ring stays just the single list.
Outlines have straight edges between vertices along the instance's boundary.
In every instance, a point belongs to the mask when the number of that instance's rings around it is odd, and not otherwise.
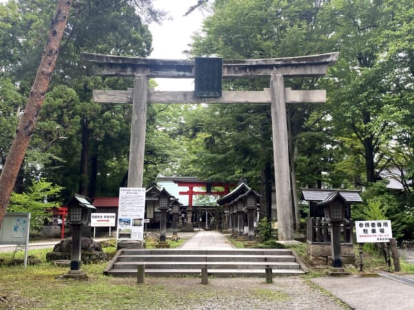
[{"label": "stone block base under the dark railing, behind the right-hand lantern", "polygon": [[[331,265],[332,247],[331,243],[307,242],[307,250],[311,265]],[[344,265],[355,265],[355,249],[351,243],[341,244],[342,263]]]}]

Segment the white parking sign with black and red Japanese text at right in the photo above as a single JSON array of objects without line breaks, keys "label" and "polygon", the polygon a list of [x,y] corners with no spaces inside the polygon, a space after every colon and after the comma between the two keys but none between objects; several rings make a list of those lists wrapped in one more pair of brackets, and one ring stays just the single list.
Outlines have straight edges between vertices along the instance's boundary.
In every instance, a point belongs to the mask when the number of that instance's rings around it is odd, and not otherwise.
[{"label": "white parking sign with black and red Japanese text at right", "polygon": [[393,238],[391,220],[357,220],[357,243],[389,242]]}]

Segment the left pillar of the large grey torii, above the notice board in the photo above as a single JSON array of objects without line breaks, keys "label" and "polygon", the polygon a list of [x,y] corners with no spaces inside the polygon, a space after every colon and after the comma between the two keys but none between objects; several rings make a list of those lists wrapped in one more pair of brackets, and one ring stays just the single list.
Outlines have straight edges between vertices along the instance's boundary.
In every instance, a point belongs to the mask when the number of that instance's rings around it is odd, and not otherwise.
[{"label": "left pillar of the large grey torii, above the notice board", "polygon": [[132,94],[133,105],[128,163],[128,187],[142,187],[144,176],[147,101],[148,77],[146,75],[135,76],[134,90]]}]

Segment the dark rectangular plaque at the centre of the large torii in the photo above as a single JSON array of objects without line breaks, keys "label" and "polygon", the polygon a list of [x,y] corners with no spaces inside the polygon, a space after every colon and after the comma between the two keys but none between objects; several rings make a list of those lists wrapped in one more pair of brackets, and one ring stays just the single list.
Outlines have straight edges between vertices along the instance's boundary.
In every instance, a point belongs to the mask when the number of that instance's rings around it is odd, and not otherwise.
[{"label": "dark rectangular plaque at the centre of the large torii", "polygon": [[201,98],[221,97],[223,59],[196,57],[194,60],[195,96]]}]

